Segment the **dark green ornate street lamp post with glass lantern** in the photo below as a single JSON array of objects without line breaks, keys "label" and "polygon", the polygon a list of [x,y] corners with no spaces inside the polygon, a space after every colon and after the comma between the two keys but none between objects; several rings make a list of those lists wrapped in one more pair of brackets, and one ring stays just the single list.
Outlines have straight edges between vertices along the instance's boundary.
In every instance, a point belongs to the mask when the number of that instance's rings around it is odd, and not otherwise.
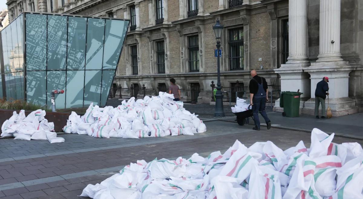
[{"label": "dark green ornate street lamp post with glass lantern", "polygon": [[220,77],[220,63],[219,63],[219,48],[221,47],[221,35],[223,31],[223,25],[220,24],[219,20],[216,21],[216,24],[213,26],[214,34],[216,35],[217,40],[217,92],[216,92],[216,108],[214,112],[214,117],[224,117],[224,110],[223,110],[223,94],[222,94],[222,87],[221,87],[221,77]]}]

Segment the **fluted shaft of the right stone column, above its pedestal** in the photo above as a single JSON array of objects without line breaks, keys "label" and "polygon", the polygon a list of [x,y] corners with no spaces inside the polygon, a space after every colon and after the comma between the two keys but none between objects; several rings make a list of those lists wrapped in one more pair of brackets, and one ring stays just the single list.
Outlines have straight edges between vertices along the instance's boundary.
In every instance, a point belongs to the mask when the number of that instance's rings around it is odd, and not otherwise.
[{"label": "fluted shaft of the right stone column, above its pedestal", "polygon": [[320,1],[317,62],[343,61],[340,54],[340,0]]}]

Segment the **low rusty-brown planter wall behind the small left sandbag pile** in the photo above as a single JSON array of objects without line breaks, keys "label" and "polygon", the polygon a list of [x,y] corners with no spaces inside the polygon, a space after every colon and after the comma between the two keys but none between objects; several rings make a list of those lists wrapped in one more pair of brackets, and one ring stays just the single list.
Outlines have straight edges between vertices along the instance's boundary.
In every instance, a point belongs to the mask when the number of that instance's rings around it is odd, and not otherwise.
[{"label": "low rusty-brown planter wall behind the small left sandbag pile", "polygon": [[[0,109],[0,124],[3,125],[5,120],[9,119],[13,115],[14,111],[19,114],[20,110]],[[32,111],[25,111],[25,116],[28,116],[31,112]],[[62,132],[62,128],[67,124],[69,115],[70,113],[64,112],[46,112],[45,119],[47,119],[48,122],[54,122],[54,131]]]}]

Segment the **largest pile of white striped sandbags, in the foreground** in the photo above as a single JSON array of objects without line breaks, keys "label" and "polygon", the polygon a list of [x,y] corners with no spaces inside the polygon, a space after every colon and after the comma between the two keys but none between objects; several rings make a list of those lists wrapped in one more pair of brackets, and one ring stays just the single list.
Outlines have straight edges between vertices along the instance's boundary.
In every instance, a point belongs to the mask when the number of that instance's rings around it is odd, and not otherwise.
[{"label": "largest pile of white striped sandbags, in the foreground", "polygon": [[363,198],[363,150],[358,143],[335,144],[334,134],[314,129],[282,151],[271,141],[249,148],[238,140],[224,154],[188,160],[131,163],[81,196],[128,199],[358,199]]}]

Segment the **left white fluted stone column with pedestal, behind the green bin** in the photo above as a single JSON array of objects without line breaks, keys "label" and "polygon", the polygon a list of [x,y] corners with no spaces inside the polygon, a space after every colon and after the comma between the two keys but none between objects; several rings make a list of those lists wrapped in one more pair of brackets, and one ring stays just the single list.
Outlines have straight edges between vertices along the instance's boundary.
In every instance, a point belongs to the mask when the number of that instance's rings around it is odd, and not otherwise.
[{"label": "left white fluted stone column with pedestal, behind the green bin", "polygon": [[[307,0],[289,0],[289,57],[286,64],[274,69],[281,76],[281,91],[300,90],[300,107],[310,98],[309,67],[307,59]],[[280,99],[275,102],[277,111],[282,111]]]}]

